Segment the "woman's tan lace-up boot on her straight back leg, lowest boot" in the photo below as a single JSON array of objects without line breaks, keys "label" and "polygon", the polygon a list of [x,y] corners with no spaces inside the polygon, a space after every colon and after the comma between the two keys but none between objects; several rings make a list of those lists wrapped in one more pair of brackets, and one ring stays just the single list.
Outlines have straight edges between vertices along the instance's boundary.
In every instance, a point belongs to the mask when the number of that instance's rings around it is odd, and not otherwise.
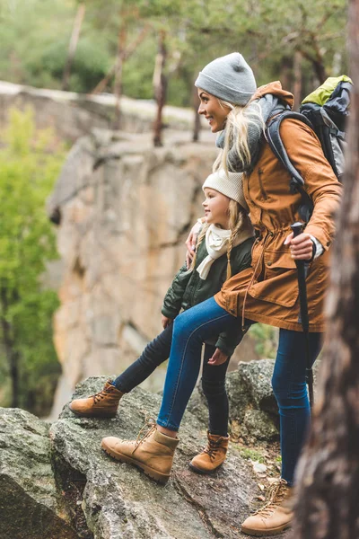
[{"label": "woman's tan lace-up boot on her straight back leg, lowest boot", "polygon": [[268,503],[241,525],[243,534],[276,535],[289,527],[293,520],[293,489],[284,479],[273,483],[268,490]]}]

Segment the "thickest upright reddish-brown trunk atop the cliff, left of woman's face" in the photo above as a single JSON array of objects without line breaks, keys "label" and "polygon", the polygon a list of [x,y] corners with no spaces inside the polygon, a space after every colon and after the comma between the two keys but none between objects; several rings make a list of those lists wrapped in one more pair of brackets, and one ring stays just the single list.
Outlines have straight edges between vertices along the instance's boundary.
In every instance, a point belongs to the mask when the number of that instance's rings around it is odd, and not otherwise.
[{"label": "thickest upright reddish-brown trunk atop the cliff, left of woman's face", "polygon": [[166,59],[166,32],[160,31],[158,53],[153,72],[154,98],[157,102],[157,114],[153,123],[153,146],[162,146],[162,110],[166,102],[167,92],[167,78],[164,75]]}]

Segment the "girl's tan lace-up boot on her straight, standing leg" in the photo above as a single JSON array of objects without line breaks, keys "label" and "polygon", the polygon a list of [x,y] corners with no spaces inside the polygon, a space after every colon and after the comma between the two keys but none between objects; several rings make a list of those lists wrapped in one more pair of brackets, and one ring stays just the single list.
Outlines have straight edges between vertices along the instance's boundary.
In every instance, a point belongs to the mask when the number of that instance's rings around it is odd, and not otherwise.
[{"label": "girl's tan lace-up boot on her straight, standing leg", "polygon": [[196,455],[189,467],[197,473],[213,473],[221,466],[227,454],[229,437],[218,436],[207,432],[208,443],[206,448]]}]

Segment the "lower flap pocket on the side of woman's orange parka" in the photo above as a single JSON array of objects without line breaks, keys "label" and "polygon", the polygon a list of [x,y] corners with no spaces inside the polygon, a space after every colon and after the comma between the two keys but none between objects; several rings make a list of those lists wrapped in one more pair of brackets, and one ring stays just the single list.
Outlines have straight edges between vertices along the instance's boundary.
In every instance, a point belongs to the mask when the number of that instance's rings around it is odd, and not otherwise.
[{"label": "lower flap pocket on the side of woman's orange parka", "polygon": [[298,281],[295,261],[288,252],[264,252],[263,273],[260,280],[249,290],[252,297],[293,307],[298,297]]}]

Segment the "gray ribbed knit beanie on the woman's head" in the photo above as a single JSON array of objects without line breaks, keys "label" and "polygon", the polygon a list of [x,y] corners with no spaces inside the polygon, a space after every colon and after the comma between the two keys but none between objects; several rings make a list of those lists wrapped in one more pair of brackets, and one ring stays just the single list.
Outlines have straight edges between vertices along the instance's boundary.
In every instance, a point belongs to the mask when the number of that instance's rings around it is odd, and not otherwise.
[{"label": "gray ribbed knit beanie on the woman's head", "polygon": [[239,52],[207,64],[199,72],[195,86],[234,105],[246,105],[257,90],[253,71]]}]

